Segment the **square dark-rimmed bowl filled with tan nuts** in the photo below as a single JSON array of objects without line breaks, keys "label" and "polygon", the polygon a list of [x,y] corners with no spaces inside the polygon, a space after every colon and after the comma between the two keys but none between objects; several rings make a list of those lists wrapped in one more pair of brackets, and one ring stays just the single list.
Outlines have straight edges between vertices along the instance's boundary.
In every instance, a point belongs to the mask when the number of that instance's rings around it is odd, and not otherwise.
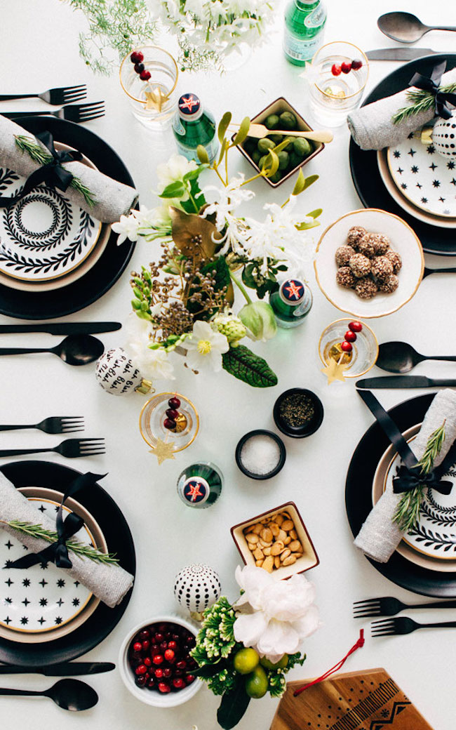
[{"label": "square dark-rimmed bowl filled with tan nuts", "polygon": [[231,528],[246,565],[256,565],[286,579],[320,563],[298,507],[286,502]]}]

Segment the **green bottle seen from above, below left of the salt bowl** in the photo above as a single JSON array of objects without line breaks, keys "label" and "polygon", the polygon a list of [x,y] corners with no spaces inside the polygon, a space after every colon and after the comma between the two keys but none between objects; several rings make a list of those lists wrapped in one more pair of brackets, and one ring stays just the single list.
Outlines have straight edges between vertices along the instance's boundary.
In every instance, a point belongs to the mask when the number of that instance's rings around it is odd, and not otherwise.
[{"label": "green bottle seen from above, below left of the salt bowl", "polygon": [[217,502],[223,487],[220,469],[210,461],[190,464],[177,480],[177,493],[182,502],[196,510],[204,510]]}]

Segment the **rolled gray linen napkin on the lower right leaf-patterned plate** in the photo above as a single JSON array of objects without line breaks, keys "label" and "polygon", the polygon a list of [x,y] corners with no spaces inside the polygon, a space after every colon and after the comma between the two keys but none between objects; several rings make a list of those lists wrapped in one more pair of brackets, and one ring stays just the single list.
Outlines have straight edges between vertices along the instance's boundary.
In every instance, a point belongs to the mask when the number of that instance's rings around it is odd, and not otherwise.
[{"label": "rolled gray linen napkin on the lower right leaf-patterned plate", "polygon": [[[444,419],[445,440],[434,461],[435,466],[444,461],[456,439],[456,393],[449,389],[437,393],[422,422],[420,433],[410,444],[417,459],[422,457],[430,434],[441,426]],[[366,489],[370,488],[371,485],[366,484]],[[355,539],[356,547],[377,563],[387,563],[403,538],[403,532],[392,522],[399,499],[401,495],[395,494],[390,485],[369,513]]]}]

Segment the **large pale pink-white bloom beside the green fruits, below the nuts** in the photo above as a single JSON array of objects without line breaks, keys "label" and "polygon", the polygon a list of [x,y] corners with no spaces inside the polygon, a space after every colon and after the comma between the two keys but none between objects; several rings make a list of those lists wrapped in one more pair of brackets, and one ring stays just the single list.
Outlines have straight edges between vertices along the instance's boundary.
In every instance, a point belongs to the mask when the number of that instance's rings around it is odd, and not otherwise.
[{"label": "large pale pink-white bloom beside the green fruits, below the nuts", "polygon": [[234,605],[234,638],[269,661],[299,651],[303,639],[320,626],[315,589],[304,575],[277,580],[248,565],[236,568],[236,580],[244,593]]}]

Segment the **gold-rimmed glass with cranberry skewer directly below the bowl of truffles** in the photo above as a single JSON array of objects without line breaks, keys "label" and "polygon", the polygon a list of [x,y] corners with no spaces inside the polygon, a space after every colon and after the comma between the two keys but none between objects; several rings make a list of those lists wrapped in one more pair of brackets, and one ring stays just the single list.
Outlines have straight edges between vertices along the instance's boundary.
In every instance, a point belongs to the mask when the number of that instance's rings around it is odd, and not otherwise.
[{"label": "gold-rimmed glass with cranberry skewer directly below the bowl of truffles", "polygon": [[379,356],[379,343],[371,328],[361,322],[362,329],[356,332],[355,342],[352,342],[352,351],[344,353],[341,350],[341,342],[349,329],[352,319],[340,319],[326,327],[321,334],[318,343],[318,354],[323,365],[328,365],[332,360],[347,365],[344,369],[344,377],[360,377],[366,374],[376,363]]}]

